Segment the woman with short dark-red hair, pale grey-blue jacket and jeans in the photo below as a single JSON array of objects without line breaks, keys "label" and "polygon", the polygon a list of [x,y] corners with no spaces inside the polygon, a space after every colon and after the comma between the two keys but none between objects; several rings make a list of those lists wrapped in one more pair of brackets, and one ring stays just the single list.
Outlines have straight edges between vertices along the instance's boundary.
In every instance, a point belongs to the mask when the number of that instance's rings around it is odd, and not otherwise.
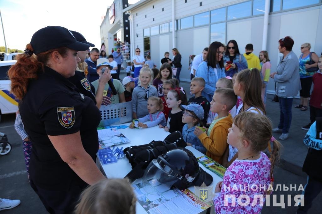
[{"label": "woman with short dark-red hair, pale grey-blue jacket and jeans", "polygon": [[294,41],[289,36],[279,39],[279,53],[282,53],[277,72],[271,73],[270,77],[276,82],[276,94],[279,97],[279,125],[272,132],[282,133],[279,140],[289,137],[289,127],[292,120],[293,98],[301,89],[300,75],[298,73],[298,57],[292,51]]}]

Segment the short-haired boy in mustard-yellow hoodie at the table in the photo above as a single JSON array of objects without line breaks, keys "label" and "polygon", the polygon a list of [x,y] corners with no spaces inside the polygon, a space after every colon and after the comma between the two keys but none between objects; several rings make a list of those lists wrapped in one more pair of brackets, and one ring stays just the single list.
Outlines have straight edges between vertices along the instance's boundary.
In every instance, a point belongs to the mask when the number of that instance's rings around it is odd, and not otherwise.
[{"label": "short-haired boy in mustard-yellow hoodie at the table", "polygon": [[[196,127],[194,134],[207,149],[206,155],[219,164],[223,163],[223,154],[228,147],[228,129],[232,127],[232,116],[229,111],[236,105],[237,96],[234,90],[217,89],[210,102],[210,111],[217,113],[209,129],[206,131]],[[205,129],[205,127],[203,127]]]}]

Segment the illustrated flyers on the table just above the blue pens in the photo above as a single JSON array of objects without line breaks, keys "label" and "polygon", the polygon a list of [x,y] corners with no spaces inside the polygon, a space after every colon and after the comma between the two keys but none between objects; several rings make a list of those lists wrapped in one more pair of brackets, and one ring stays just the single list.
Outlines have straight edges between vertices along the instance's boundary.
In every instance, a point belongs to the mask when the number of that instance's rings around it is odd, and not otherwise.
[{"label": "illustrated flyers on the table just above the blue pens", "polygon": [[110,146],[120,145],[130,142],[130,140],[120,133],[117,129],[97,130],[99,135],[99,149],[105,149]]}]

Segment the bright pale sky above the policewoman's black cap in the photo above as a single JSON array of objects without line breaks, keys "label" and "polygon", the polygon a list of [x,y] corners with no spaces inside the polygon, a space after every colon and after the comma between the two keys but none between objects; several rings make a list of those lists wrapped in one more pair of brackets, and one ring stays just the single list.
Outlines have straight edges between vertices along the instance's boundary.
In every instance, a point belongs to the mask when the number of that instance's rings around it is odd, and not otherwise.
[{"label": "bright pale sky above the policewoman's black cap", "polygon": [[[102,15],[113,0],[1,0],[0,10],[7,47],[24,50],[34,32],[48,25],[75,30],[100,48]],[[129,0],[133,4],[137,0]],[[1,26],[2,27],[2,26]],[[0,46],[5,41],[0,31]]]}]

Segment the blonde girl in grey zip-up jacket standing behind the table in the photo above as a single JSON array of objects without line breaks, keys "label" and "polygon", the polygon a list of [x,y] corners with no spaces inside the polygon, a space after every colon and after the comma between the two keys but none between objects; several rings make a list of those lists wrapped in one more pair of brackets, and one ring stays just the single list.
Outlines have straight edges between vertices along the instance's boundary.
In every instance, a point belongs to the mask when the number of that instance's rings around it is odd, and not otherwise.
[{"label": "blonde girl in grey zip-up jacket standing behind the table", "polygon": [[147,100],[149,97],[158,96],[156,88],[151,85],[152,71],[150,68],[143,67],[140,70],[139,82],[132,93],[133,118],[141,118],[148,114]]}]

